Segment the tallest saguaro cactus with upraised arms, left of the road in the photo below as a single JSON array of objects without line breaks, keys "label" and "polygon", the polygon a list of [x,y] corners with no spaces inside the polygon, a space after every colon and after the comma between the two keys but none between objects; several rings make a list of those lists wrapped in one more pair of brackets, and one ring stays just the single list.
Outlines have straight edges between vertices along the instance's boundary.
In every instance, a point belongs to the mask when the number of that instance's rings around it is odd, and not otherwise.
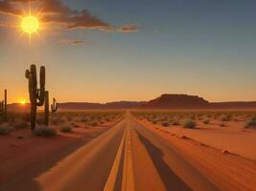
[{"label": "tallest saguaro cactus with upraised arms, left of the road", "polygon": [[35,130],[36,122],[36,109],[37,106],[42,106],[44,104],[45,97],[45,67],[40,68],[40,88],[37,89],[37,76],[36,67],[31,65],[30,70],[26,70],[26,78],[29,79],[29,93],[31,101],[31,130]]}]

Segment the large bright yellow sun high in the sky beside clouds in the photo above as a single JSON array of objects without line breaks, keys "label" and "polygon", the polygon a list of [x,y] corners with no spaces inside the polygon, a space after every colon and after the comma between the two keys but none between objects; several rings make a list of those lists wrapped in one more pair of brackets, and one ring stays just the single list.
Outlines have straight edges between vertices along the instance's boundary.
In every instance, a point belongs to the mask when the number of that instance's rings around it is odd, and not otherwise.
[{"label": "large bright yellow sun high in the sky beside clouds", "polygon": [[39,29],[38,18],[33,15],[23,17],[21,20],[21,29],[23,32],[27,32],[29,34],[37,32]]}]

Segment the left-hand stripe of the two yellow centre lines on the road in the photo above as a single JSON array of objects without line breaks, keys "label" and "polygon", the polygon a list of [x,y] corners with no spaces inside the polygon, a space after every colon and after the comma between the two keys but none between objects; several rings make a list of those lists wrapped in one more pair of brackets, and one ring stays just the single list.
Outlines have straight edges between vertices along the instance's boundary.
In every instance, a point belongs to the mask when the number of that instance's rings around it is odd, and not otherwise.
[{"label": "left-hand stripe of the two yellow centre lines on the road", "polygon": [[118,169],[120,167],[120,162],[121,162],[121,157],[122,157],[122,152],[123,152],[123,148],[124,148],[124,144],[125,144],[126,135],[127,135],[127,129],[125,129],[124,136],[121,140],[116,158],[114,160],[114,164],[112,166],[112,169],[110,171],[108,179],[106,180],[104,191],[113,191],[115,188],[115,183],[117,180],[117,173],[118,173]]}]

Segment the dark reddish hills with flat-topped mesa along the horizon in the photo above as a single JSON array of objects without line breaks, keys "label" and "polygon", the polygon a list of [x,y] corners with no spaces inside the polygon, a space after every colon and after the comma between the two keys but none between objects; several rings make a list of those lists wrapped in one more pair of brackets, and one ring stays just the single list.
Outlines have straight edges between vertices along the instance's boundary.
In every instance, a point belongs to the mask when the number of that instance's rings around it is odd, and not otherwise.
[{"label": "dark reddish hills with flat-topped mesa along the horizon", "polygon": [[[107,103],[64,102],[59,103],[61,110],[102,110],[102,109],[256,109],[256,101],[209,102],[199,96],[168,95],[150,101],[113,101]],[[10,111],[30,111],[30,104],[8,105]],[[43,109],[43,108],[41,108]]]}]

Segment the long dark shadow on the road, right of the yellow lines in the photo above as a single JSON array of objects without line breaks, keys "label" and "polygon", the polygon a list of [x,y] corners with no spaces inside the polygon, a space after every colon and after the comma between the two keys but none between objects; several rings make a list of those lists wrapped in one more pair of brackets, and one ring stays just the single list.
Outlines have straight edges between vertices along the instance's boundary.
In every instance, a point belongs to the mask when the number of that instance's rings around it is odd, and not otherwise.
[{"label": "long dark shadow on the road, right of the yellow lines", "polygon": [[191,190],[187,184],[179,179],[174,171],[166,164],[163,159],[163,152],[151,143],[148,138],[143,137],[137,130],[136,133],[140,141],[144,144],[148,153],[151,156],[151,160],[167,190]]}]

